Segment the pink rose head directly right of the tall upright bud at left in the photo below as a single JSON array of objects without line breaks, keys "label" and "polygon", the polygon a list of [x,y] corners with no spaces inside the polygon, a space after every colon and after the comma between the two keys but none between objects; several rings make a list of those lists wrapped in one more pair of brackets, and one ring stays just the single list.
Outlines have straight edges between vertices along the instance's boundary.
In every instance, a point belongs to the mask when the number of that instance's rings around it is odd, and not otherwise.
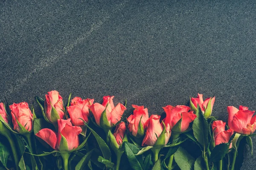
[{"label": "pink rose head directly right of the tall upright bud at left", "polygon": [[[70,106],[67,107],[67,112],[70,115],[70,119],[73,125],[82,126],[84,122],[88,122],[89,118],[89,107],[88,105],[93,104],[94,99],[84,99],[75,97],[71,100]],[[80,119],[79,119],[80,118]],[[81,120],[83,119],[83,120]]]}]

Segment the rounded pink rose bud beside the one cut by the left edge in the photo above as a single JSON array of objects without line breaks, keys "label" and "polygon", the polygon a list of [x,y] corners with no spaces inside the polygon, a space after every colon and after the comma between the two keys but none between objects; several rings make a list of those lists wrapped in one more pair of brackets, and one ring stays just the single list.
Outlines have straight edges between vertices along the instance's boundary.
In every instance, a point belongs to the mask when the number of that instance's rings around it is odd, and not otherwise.
[{"label": "rounded pink rose bud beside the one cut by the left edge", "polygon": [[[13,129],[21,132],[20,130],[25,128],[24,133],[32,130],[33,114],[29,109],[29,105],[26,102],[20,102],[18,104],[13,103],[9,106],[12,114]],[[20,123],[20,125],[19,125]],[[21,127],[22,126],[22,127]],[[22,132],[22,133],[23,133]]]}]

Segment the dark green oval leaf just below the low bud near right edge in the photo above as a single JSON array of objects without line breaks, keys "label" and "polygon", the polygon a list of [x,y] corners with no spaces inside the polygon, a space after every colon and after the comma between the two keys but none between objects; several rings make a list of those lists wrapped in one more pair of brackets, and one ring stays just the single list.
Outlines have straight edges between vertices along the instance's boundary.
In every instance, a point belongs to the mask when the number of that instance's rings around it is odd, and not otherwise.
[{"label": "dark green oval leaf just below the low bud near right edge", "polygon": [[216,145],[211,153],[210,162],[217,162],[224,158],[224,156],[228,153],[229,150],[228,143],[222,143]]}]

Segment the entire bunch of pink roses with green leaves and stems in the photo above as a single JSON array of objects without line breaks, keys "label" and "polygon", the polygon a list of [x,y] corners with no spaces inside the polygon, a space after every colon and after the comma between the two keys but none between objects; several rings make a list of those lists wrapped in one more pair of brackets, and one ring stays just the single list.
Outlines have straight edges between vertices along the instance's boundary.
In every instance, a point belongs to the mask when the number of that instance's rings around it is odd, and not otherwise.
[{"label": "entire bunch of pink roses with green leaves and stems", "polygon": [[[0,103],[0,167],[15,170],[235,170],[256,130],[255,111],[227,107],[228,122],[212,116],[215,97],[167,105],[163,114],[144,106],[114,105],[58,91],[35,97],[41,111]],[[127,112],[127,111],[126,111]],[[126,118],[123,115],[128,115]]]}]

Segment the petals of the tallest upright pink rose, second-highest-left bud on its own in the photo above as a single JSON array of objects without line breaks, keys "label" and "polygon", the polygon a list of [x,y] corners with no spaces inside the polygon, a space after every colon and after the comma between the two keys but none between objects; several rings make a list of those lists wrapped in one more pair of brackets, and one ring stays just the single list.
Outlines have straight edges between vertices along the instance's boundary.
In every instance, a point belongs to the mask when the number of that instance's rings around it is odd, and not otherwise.
[{"label": "petals of the tallest upright pink rose, second-highest-left bud on its own", "polygon": [[45,110],[47,119],[52,122],[51,111],[52,107],[56,109],[60,119],[64,117],[64,107],[61,95],[59,95],[58,91],[49,91],[45,95]]}]

